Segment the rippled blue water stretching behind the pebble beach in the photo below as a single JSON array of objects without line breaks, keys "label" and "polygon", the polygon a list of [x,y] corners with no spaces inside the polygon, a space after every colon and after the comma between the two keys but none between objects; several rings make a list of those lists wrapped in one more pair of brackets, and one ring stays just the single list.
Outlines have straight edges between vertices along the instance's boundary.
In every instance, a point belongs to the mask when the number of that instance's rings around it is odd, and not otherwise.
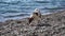
[{"label": "rippled blue water stretching behind the pebble beach", "polygon": [[40,8],[42,14],[65,10],[64,3],[64,0],[0,0],[0,21],[28,17],[35,8]]}]

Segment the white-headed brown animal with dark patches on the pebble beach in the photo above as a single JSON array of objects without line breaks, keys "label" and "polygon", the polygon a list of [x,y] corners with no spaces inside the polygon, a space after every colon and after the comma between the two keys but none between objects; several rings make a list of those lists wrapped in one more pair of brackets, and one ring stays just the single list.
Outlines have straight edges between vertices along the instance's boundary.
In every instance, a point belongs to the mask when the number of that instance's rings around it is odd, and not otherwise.
[{"label": "white-headed brown animal with dark patches on the pebble beach", "polygon": [[30,23],[32,20],[38,21],[38,20],[40,20],[40,19],[41,19],[41,13],[40,13],[40,11],[39,11],[38,8],[36,8],[36,10],[34,11],[34,13],[30,15],[29,23]]}]

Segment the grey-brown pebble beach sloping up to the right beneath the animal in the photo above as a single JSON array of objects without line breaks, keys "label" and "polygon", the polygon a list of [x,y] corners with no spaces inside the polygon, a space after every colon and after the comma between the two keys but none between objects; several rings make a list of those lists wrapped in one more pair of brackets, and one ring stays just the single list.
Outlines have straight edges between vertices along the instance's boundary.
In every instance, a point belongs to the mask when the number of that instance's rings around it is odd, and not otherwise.
[{"label": "grey-brown pebble beach sloping up to the right beneath the animal", "polygon": [[1,36],[65,36],[65,11],[42,15],[38,23],[28,18],[0,22]]}]

